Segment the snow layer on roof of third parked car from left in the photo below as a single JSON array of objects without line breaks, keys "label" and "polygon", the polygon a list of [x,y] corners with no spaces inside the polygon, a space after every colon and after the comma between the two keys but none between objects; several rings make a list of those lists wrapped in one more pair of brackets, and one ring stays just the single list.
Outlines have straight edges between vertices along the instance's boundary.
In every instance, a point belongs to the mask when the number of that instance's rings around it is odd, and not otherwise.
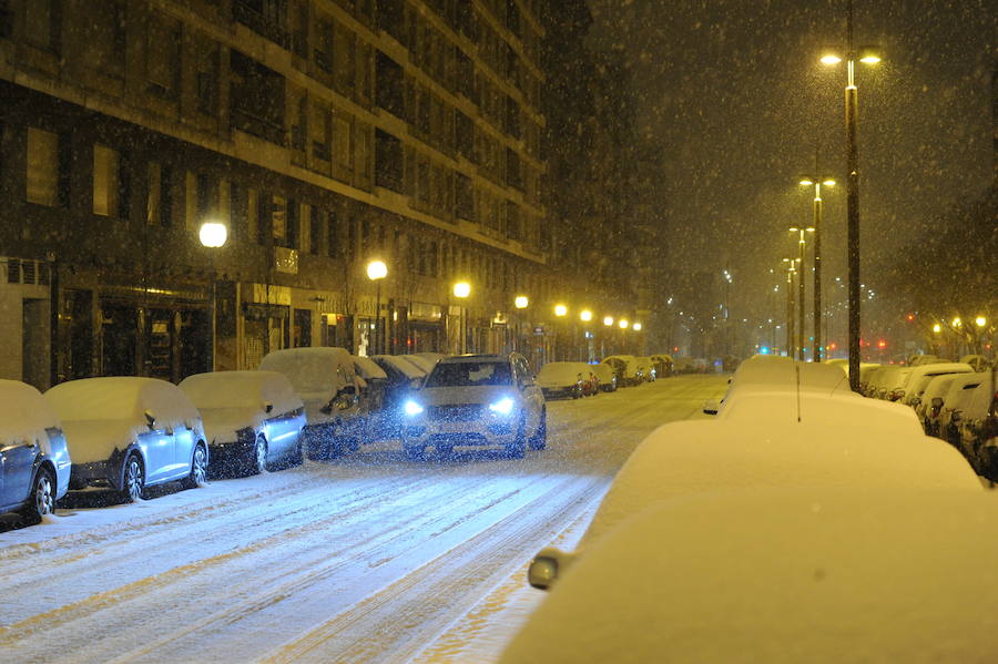
[{"label": "snow layer on roof of third parked car from left", "polygon": [[277,371],[213,371],[184,378],[179,386],[198,409],[253,408],[273,413],[303,407],[288,379]]}]

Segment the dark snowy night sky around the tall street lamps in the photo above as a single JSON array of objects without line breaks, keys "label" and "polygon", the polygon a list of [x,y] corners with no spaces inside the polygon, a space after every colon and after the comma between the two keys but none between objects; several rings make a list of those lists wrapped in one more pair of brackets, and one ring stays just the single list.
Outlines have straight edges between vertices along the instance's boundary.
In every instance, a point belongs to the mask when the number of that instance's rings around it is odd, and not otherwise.
[{"label": "dark snowy night sky around the tall street lamps", "polygon": [[[662,227],[680,266],[730,264],[735,300],[766,292],[768,269],[809,224],[797,185],[818,171],[844,185],[845,0],[591,0],[597,49],[622,44],[640,132],[661,151]],[[863,280],[994,177],[994,6],[984,0],[857,0]],[[825,196],[825,274],[845,277],[845,187]],[[885,294],[890,295],[890,294]],[[826,295],[828,297],[828,295]],[[752,305],[754,306],[754,305]],[[747,307],[746,307],[747,308]],[[748,311],[733,307],[735,317]]]}]

